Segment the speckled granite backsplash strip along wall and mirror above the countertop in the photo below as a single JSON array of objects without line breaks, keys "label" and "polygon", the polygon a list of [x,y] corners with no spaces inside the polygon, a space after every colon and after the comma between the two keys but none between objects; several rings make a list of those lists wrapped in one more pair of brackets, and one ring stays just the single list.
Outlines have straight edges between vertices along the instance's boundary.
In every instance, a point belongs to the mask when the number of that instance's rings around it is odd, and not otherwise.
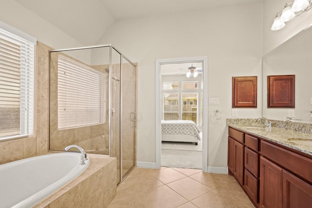
[{"label": "speckled granite backsplash strip along wall and mirror above the countertop", "polygon": [[[310,123],[299,123],[292,121],[281,121],[281,120],[271,120],[272,127],[277,127],[280,129],[292,130],[302,133],[312,133],[312,124]],[[263,122],[263,121],[262,121]],[[262,127],[263,123],[259,122],[257,118],[227,118],[226,123],[230,125],[238,126],[255,126]]]}]

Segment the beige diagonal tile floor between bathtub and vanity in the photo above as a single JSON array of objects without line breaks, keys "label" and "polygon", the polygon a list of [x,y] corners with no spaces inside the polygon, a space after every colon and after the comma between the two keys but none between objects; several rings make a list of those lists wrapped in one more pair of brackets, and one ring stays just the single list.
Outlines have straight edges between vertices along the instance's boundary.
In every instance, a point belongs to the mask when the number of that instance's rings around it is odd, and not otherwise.
[{"label": "beige diagonal tile floor between bathtub and vanity", "polygon": [[234,177],[198,169],[135,168],[109,208],[254,208]]}]

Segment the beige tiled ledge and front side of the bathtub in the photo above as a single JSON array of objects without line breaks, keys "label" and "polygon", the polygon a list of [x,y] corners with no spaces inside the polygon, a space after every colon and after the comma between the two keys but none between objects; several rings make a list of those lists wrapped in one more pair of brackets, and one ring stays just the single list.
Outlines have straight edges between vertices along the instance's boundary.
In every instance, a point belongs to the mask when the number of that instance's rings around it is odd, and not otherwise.
[{"label": "beige tiled ledge and front side of the bathtub", "polygon": [[80,176],[34,208],[106,208],[115,198],[116,158],[88,154],[90,165]]}]

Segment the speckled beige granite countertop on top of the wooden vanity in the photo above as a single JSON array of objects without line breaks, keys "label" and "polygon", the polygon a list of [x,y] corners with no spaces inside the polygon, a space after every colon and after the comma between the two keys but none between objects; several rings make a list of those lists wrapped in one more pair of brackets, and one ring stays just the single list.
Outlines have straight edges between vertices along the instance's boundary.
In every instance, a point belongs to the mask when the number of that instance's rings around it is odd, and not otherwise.
[{"label": "speckled beige granite countertop on top of the wooden vanity", "polygon": [[312,133],[298,132],[277,127],[265,128],[261,125],[227,122],[229,127],[253,134],[291,149],[312,155]]}]

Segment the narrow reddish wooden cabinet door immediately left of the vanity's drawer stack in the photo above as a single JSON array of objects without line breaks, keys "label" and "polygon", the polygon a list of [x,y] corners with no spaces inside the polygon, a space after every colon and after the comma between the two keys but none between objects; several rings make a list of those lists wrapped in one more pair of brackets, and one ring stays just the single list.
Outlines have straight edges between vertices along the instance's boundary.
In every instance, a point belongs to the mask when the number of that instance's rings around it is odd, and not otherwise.
[{"label": "narrow reddish wooden cabinet door immediately left of the vanity's drawer stack", "polygon": [[234,170],[233,174],[237,181],[243,185],[244,182],[244,145],[234,141]]}]

